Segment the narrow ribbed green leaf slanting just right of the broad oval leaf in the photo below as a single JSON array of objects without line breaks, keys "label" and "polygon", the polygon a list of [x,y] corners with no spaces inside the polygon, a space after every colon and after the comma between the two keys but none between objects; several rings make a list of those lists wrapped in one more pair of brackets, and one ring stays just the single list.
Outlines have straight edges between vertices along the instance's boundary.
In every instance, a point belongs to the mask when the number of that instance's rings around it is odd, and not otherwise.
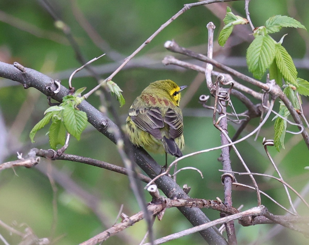
[{"label": "narrow ribbed green leaf slanting just right of the broad oval leaf", "polygon": [[292,57],[281,44],[275,45],[276,64],[285,81],[297,87],[296,78],[297,71]]}]

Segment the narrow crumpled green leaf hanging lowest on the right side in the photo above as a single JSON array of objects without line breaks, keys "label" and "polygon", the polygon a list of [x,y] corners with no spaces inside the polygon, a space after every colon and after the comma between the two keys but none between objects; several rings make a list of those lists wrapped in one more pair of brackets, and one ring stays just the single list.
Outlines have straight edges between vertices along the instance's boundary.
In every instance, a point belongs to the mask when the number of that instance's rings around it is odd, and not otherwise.
[{"label": "narrow crumpled green leaf hanging lowest on the right side", "polygon": [[[279,114],[283,116],[284,118],[287,118],[287,116],[290,114],[289,110],[286,108],[285,105],[280,105]],[[278,152],[280,152],[279,147],[281,146],[283,149],[284,147],[284,138],[286,135],[286,120],[277,117],[275,124],[274,124],[274,130],[275,130],[275,136],[273,138],[273,143],[277,149]]]}]

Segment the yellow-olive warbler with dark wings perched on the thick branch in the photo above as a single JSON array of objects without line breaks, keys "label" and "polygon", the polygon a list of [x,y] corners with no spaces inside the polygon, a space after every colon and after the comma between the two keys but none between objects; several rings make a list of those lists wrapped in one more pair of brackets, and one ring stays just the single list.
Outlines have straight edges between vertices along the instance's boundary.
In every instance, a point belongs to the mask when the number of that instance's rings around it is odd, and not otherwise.
[{"label": "yellow-olive warbler with dark wings perched on the thick branch", "polygon": [[179,102],[180,91],[186,87],[171,80],[150,83],[134,100],[126,120],[131,143],[150,152],[165,152],[165,168],[167,153],[182,156],[184,125]]}]

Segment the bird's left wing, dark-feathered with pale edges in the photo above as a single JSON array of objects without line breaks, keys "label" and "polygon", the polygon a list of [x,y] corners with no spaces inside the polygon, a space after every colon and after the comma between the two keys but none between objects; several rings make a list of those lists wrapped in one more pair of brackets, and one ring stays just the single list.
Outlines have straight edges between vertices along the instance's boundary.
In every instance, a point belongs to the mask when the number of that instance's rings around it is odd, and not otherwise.
[{"label": "bird's left wing, dark-feathered with pale edges", "polygon": [[129,116],[142,130],[146,131],[156,139],[162,139],[160,128],[164,127],[163,117],[159,108],[129,109]]}]

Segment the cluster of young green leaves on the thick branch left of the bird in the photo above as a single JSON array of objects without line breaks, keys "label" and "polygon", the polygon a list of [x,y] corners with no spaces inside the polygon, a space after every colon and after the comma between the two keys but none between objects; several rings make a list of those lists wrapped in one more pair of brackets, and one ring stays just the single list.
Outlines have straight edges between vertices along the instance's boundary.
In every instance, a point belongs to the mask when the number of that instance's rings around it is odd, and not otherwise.
[{"label": "cluster of young green leaves on the thick branch left of the bird", "polygon": [[30,131],[30,139],[34,142],[36,132],[52,121],[48,135],[49,145],[56,149],[57,145],[64,145],[66,142],[66,132],[73,135],[76,139],[80,136],[87,126],[87,114],[76,108],[83,101],[79,95],[86,88],[78,89],[73,95],[63,97],[59,106],[51,106],[44,112],[44,118],[38,122]]}]

